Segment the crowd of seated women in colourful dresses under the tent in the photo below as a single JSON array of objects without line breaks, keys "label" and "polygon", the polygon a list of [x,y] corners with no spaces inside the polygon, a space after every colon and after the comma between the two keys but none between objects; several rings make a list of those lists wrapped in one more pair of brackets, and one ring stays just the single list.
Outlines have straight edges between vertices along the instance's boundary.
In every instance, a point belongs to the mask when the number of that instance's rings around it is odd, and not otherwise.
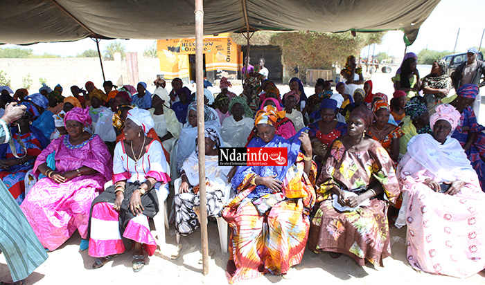
[{"label": "crowd of seated women in colourful dresses under the tent", "polygon": [[[225,77],[219,94],[204,88],[207,214],[229,224],[229,283],[289,277],[307,245],[383,266],[390,226],[407,227],[407,260],[417,270],[468,277],[485,268],[485,128],[470,107],[477,85],[464,84],[451,99],[436,95],[450,91],[432,93],[436,82],[450,87],[446,67],[437,60],[421,80],[414,54],[393,77],[390,102],[364,82],[355,57],[335,93],[317,80],[307,96],[294,77],[280,94],[256,69],[240,95]],[[93,268],[132,250],[138,272],[157,249],[148,221],[169,185],[177,235],[206,222],[195,94],[179,78],[171,91],[164,80],[153,83],[149,93],[145,82],[104,82],[104,90],[87,82],[65,98],[60,86],[2,91],[1,103],[27,111],[0,146],[0,177],[46,250],[78,230]],[[220,147],[282,147],[288,164],[220,166]],[[33,185],[27,193],[25,180]]]}]

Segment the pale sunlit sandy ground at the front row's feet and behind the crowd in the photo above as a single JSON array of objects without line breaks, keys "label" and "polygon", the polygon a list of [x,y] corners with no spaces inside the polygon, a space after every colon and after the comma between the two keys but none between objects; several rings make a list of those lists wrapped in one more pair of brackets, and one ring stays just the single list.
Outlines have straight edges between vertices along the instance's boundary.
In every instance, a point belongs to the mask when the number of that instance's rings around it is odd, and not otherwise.
[{"label": "pale sunlit sandy ground at the front row's feet and behind the crowd", "polygon": [[[421,71],[423,73],[423,71]],[[423,73],[427,74],[427,73]],[[376,73],[373,75],[376,91],[392,94],[391,75]],[[377,87],[378,86],[378,87]],[[218,91],[217,88],[212,88]],[[231,88],[233,92],[240,93],[241,86]],[[289,91],[288,86],[281,86],[281,93]],[[306,93],[312,94],[312,88],[306,88]],[[390,96],[389,96],[390,97]],[[482,106],[480,122],[485,123],[485,106]],[[163,252],[168,256],[176,244],[174,226],[166,230],[168,249]],[[152,226],[152,229],[154,227]],[[153,232],[156,235],[156,232]],[[350,257],[342,255],[332,259],[328,253],[316,255],[306,250],[301,264],[294,266],[291,279],[281,279],[279,276],[265,275],[251,279],[240,284],[315,284],[322,280],[325,284],[350,284],[358,282],[362,285],[375,284],[485,284],[485,271],[467,279],[437,276],[421,273],[411,268],[406,260],[405,228],[391,228],[391,257],[384,259],[383,268],[372,265],[359,266]],[[42,266],[26,279],[27,284],[227,284],[224,268],[229,258],[222,254],[218,238],[218,227],[215,222],[209,222],[209,274],[202,275],[202,258],[200,253],[200,231],[197,230],[188,237],[182,237],[184,246],[179,259],[172,260],[156,253],[146,259],[147,265],[139,273],[133,273],[131,268],[132,253],[125,252],[116,257],[103,268],[92,270],[95,259],[89,257],[87,250],[79,251],[80,236],[76,232],[64,246],[48,252],[48,259]],[[0,255],[0,281],[10,280],[10,273],[5,257]]]}]

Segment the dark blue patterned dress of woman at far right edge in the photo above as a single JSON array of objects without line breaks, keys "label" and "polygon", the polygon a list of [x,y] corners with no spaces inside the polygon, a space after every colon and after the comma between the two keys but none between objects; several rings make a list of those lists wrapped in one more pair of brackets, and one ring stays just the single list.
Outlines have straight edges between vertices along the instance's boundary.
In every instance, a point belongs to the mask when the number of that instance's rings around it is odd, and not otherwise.
[{"label": "dark blue patterned dress of woman at far right edge", "polygon": [[[463,131],[464,127],[469,127],[469,131]],[[480,186],[482,190],[485,192],[485,134],[484,131],[485,127],[479,125],[477,123],[477,117],[475,116],[475,112],[473,111],[472,107],[468,107],[463,110],[461,113],[458,127],[452,134],[452,138],[456,138],[461,147],[464,147],[468,142],[468,136],[470,133],[477,133],[475,137],[475,141],[473,142],[470,149],[466,151],[466,156],[468,156],[468,160],[472,163],[473,169],[478,174]]]}]

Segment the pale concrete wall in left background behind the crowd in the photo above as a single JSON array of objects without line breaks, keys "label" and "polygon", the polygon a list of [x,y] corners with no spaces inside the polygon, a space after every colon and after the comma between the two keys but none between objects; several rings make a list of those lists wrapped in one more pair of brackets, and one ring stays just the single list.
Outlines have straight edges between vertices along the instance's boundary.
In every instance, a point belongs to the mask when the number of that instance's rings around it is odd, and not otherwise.
[{"label": "pale concrete wall in left background behind the crowd", "polygon": [[[106,80],[121,86],[130,84],[136,87],[136,83],[144,81],[148,84],[148,90],[155,89],[153,80],[160,73],[160,61],[157,58],[143,57],[138,53],[138,78],[137,82],[130,82],[127,62],[116,55],[114,60],[103,60]],[[69,88],[72,85],[84,87],[87,81],[94,82],[98,89],[103,88],[103,73],[98,57],[72,57],[72,58],[0,58],[0,71],[4,71],[10,77],[10,87],[13,91],[23,88],[22,78],[30,74],[32,85],[29,93],[38,92],[42,86],[39,78],[46,78],[47,85],[54,89],[54,86],[61,84],[64,88],[63,95],[71,95]]]}]

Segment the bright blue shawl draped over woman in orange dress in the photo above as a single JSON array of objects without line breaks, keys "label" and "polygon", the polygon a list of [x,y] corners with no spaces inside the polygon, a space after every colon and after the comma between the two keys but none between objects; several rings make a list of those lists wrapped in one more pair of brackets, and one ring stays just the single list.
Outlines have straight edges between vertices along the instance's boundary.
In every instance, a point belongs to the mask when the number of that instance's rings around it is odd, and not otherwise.
[{"label": "bright blue shawl draped over woman in orange dress", "polygon": [[[276,175],[275,179],[283,181],[286,176],[288,169],[294,165],[297,161],[298,153],[300,151],[301,141],[299,140],[302,131],[308,130],[305,127],[297,132],[291,138],[285,139],[281,136],[275,135],[270,143],[265,143],[261,138],[253,138],[247,145],[247,147],[283,147],[288,149],[288,164],[286,166],[239,166],[236,170],[236,174],[232,178],[232,187],[236,189],[240,183],[243,183],[244,178],[247,174],[255,173],[258,176],[266,177],[271,175]],[[256,188],[247,197],[249,199],[259,198],[266,194],[270,194],[273,191],[270,190],[265,185],[257,185]]]}]

